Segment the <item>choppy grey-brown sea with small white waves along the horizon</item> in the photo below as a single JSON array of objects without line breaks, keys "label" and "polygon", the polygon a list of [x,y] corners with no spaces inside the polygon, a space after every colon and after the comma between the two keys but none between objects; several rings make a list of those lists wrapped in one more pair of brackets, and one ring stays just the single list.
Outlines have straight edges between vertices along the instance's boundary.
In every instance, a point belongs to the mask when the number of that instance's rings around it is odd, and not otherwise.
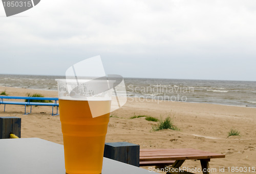
[{"label": "choppy grey-brown sea with small white waves along the horizon", "polygon": [[[65,77],[0,74],[0,86],[57,91],[55,79]],[[117,93],[139,98],[140,101],[256,107],[256,81],[124,78],[124,84],[125,88],[115,88]]]}]

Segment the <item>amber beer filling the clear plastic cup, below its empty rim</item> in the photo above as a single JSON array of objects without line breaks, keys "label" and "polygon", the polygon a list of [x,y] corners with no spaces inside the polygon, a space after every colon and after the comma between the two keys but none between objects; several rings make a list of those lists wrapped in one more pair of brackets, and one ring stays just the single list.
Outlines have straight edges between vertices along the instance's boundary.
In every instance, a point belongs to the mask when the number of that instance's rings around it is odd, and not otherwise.
[{"label": "amber beer filling the clear plastic cup, below its empty rim", "polygon": [[[93,118],[89,107],[104,115]],[[59,99],[66,173],[99,174],[102,170],[105,135],[108,130],[111,101]],[[91,107],[92,109],[92,107]]]}]

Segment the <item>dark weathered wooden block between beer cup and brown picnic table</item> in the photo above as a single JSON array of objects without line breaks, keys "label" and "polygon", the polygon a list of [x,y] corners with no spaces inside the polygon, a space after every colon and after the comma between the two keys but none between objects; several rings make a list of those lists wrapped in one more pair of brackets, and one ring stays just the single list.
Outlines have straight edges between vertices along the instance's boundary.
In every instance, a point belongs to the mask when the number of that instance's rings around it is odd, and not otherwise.
[{"label": "dark weathered wooden block between beer cup and brown picnic table", "polygon": [[107,142],[104,157],[139,167],[140,146],[129,142]]}]

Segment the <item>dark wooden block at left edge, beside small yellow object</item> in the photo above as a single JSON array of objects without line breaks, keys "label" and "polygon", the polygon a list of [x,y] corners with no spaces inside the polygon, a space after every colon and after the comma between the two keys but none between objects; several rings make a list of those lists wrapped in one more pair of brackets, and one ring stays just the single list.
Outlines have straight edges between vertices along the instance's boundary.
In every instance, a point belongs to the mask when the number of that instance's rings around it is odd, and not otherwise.
[{"label": "dark wooden block at left edge, beside small yellow object", "polygon": [[21,128],[22,118],[0,117],[0,139],[9,138],[10,133],[20,138]]}]

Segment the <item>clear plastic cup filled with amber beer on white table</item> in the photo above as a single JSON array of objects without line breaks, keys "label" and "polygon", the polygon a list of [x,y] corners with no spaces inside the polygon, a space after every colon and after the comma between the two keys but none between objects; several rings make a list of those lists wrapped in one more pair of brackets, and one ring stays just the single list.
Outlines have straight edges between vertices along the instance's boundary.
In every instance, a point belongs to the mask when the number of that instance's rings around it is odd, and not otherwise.
[{"label": "clear plastic cup filled with amber beer on white table", "polygon": [[66,173],[99,174],[114,81],[56,81]]}]

